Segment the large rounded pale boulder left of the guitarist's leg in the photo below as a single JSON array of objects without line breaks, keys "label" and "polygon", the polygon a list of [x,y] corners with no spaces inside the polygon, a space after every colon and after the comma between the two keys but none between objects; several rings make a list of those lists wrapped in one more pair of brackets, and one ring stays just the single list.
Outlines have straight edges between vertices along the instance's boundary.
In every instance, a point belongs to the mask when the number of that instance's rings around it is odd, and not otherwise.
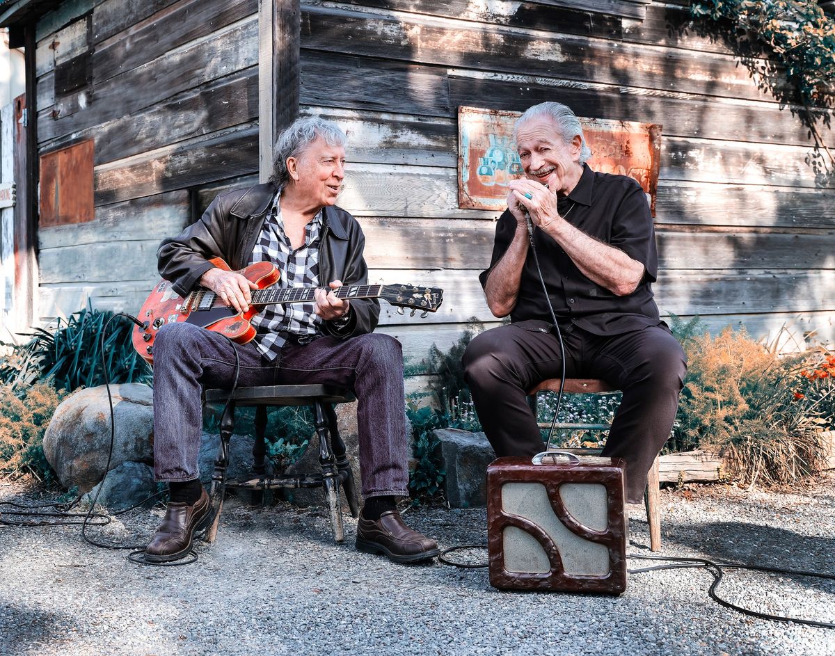
[{"label": "large rounded pale boulder left of the guitarist's leg", "polygon": [[[111,385],[115,417],[110,469],[123,462],[152,464],[153,392],[147,385]],[[63,487],[87,492],[104,478],[110,446],[110,408],[104,385],[64,399],[43,436],[43,453]]]}]

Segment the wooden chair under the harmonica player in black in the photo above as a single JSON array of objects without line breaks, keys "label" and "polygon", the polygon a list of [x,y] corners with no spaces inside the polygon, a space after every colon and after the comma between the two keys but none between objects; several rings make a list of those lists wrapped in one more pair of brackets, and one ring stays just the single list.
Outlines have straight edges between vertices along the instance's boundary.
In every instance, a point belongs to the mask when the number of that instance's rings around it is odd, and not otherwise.
[{"label": "wooden chair under the harmonica player in black", "polygon": [[[533,399],[534,416],[536,415],[536,395],[540,391],[559,392],[559,378],[549,378],[528,391],[528,395]],[[564,394],[609,394],[619,390],[610,386],[606,381],[600,381],[595,378],[566,378],[563,391]],[[540,424],[539,426],[541,428],[549,428],[550,424]],[[609,428],[609,424],[565,424],[558,422],[554,425],[554,429],[577,431],[608,431]],[[600,449],[590,448],[562,449],[562,451],[588,456],[600,454]],[[650,550],[652,551],[661,550],[661,515],[658,508],[659,488],[658,457],[656,456],[647,475],[646,491],[644,493],[646,519],[650,524]]]}]

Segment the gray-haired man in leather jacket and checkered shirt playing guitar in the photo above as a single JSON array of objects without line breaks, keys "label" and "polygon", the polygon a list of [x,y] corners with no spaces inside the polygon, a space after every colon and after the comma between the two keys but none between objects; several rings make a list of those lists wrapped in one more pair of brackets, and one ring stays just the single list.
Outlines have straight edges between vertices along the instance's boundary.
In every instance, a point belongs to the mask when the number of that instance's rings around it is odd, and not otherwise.
[{"label": "gray-haired man in leather jacket and checkered shirt playing guitar", "polygon": [[[197,453],[202,386],[323,384],[357,396],[365,505],[357,548],[397,563],[433,558],[438,545],[406,527],[396,497],[406,497],[408,442],[402,353],[390,336],[373,334],[374,299],[342,300],[345,285],[367,284],[365,238],[357,220],[336,206],[345,176],[342,130],[318,118],[298,119],[276,143],[267,184],[220,194],[195,224],[159,246],[159,272],[180,295],[195,285],[246,311],[252,284],[235,270],[269,261],[281,286],[329,285],[316,302],[268,305],[251,320],[253,341],[235,349],[225,337],[188,323],[164,325],[154,343],[154,473],[170,487],[164,521],[145,550],[151,562],[189,553],[210,522]],[[221,257],[232,270],[210,263]]]}]

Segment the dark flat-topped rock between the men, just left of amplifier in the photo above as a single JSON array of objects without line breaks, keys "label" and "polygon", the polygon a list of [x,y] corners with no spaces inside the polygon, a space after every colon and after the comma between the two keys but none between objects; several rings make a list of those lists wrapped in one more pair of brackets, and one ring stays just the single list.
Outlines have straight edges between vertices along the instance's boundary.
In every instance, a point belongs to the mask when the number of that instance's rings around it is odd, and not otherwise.
[{"label": "dark flat-topped rock between the men, just left of amplifier", "polygon": [[487,466],[496,459],[484,433],[444,428],[435,431],[447,472],[447,502],[453,508],[487,505]]}]

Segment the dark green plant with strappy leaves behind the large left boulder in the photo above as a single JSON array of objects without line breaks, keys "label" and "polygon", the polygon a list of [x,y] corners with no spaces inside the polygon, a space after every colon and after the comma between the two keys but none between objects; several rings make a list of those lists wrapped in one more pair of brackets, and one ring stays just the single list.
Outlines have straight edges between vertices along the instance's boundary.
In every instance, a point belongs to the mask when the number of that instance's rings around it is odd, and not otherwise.
[{"label": "dark green plant with strappy leaves behind the large left boulder", "polygon": [[[35,328],[26,344],[0,357],[0,384],[19,391],[35,382],[52,381],[58,390],[104,384],[101,336],[113,316],[109,310],[79,310],[52,330]],[[145,361],[134,351],[130,336],[134,324],[123,316],[110,321],[104,337],[104,361],[111,383],[151,382]]]}]

